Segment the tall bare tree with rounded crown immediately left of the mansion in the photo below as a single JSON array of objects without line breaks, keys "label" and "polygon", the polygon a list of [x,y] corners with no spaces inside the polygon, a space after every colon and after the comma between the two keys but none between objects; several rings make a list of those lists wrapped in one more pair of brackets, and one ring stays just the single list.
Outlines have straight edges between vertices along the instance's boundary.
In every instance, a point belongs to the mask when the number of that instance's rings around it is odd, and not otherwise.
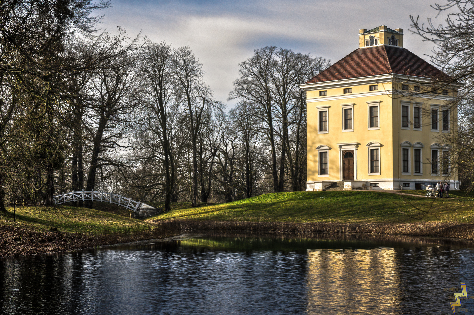
[{"label": "tall bare tree with rounded crown immediately left of the mansion", "polygon": [[[229,99],[244,99],[255,106],[255,116],[265,122],[265,133],[270,142],[273,191],[281,192],[287,169],[290,170],[292,189],[300,190],[298,178],[302,179],[301,124],[303,105],[298,84],[310,78],[315,60],[322,70],[328,63],[324,59],[311,59],[309,55],[292,50],[267,46],[254,51],[254,56],[239,64],[240,78],[234,81],[234,90]],[[304,105],[303,105],[304,106]],[[294,119],[296,112],[299,119]],[[292,117],[292,121],[290,118]],[[298,134],[290,136],[291,125],[300,122]],[[291,138],[297,138],[292,153]],[[304,141],[303,141],[304,142]],[[277,153],[279,158],[277,159]],[[288,167],[287,167],[288,164]],[[301,180],[300,180],[301,181]]]}]

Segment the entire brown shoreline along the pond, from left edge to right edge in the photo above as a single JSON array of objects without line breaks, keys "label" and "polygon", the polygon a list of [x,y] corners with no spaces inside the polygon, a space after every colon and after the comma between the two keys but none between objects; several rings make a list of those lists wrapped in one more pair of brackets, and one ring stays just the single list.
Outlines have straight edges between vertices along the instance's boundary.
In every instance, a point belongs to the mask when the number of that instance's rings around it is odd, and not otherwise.
[{"label": "entire brown shoreline along the pond, from left edge to right edge", "polygon": [[442,237],[460,242],[474,240],[474,223],[285,223],[243,221],[150,220],[156,229],[128,234],[90,234],[0,225],[0,260],[9,257],[73,252],[99,246],[119,245],[146,240],[160,240],[182,233],[265,233],[282,236],[324,234],[403,235]]}]

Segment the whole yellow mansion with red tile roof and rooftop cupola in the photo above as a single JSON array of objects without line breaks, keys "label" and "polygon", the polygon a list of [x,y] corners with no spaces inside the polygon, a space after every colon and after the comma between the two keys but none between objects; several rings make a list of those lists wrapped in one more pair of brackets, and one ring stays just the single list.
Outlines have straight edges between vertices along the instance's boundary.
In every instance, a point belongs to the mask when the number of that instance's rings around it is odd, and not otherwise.
[{"label": "whole yellow mansion with red tile roof and rooftop cupola", "polygon": [[403,48],[403,30],[359,31],[359,48],[302,84],[307,92],[307,191],[459,189],[449,165],[455,86],[423,93],[443,72]]}]

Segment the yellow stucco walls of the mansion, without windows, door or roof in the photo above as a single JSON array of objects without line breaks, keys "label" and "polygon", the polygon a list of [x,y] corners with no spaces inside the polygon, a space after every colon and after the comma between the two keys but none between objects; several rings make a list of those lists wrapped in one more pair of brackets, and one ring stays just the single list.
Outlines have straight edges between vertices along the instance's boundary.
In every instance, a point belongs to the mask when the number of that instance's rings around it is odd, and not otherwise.
[{"label": "yellow stucco walls of the mansion, without windows, door or roof", "polygon": [[[349,86],[346,86],[349,87]],[[352,93],[344,94],[344,88],[319,89],[326,90],[327,96],[319,96],[319,90],[307,91],[307,132],[308,132],[308,181],[331,181],[342,180],[340,172],[340,153],[337,144],[358,143],[356,158],[356,180],[367,180],[377,182],[378,179],[412,179],[412,180],[446,180],[448,178],[431,176],[430,145],[434,143],[444,144],[441,125],[438,132],[430,129],[430,108],[432,105],[439,105],[440,110],[444,101],[440,99],[409,98],[395,94],[393,90],[401,90],[401,85],[392,81],[378,83],[378,91],[369,92],[369,85],[352,86]],[[412,89],[412,86],[410,86]],[[386,91],[388,95],[380,94]],[[367,94],[362,95],[361,94]],[[398,95],[398,96],[397,96]],[[338,99],[335,99],[338,98]],[[316,100],[316,101],[315,101]],[[367,102],[380,101],[379,126],[378,130],[368,130],[368,104]],[[410,106],[410,130],[401,128],[401,102]],[[343,107],[342,104],[354,103],[353,109],[353,132],[343,132]],[[423,108],[421,131],[413,128],[413,103],[421,104]],[[417,105],[417,106],[418,106]],[[328,133],[318,134],[318,108],[328,106]],[[441,118],[441,116],[438,116]],[[456,110],[451,112],[451,132],[456,126]],[[441,124],[441,122],[439,122]],[[414,175],[413,147],[410,147],[410,175],[401,174],[401,143],[409,141],[411,144],[420,142],[424,145],[422,150],[422,175]],[[370,142],[382,144],[380,147],[380,175],[369,175],[369,148],[366,146]],[[327,145],[329,176],[318,176],[318,150],[319,145]],[[457,180],[457,174],[450,179]]]}]

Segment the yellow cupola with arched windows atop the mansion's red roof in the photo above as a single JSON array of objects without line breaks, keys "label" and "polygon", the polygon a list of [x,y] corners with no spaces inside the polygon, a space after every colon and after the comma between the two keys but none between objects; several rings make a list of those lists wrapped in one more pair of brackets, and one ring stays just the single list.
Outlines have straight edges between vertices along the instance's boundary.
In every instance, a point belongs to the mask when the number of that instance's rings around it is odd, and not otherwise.
[{"label": "yellow cupola with arched windows atop the mansion's red roof", "polygon": [[403,28],[391,29],[385,25],[359,29],[359,47],[392,45],[403,47]]}]

